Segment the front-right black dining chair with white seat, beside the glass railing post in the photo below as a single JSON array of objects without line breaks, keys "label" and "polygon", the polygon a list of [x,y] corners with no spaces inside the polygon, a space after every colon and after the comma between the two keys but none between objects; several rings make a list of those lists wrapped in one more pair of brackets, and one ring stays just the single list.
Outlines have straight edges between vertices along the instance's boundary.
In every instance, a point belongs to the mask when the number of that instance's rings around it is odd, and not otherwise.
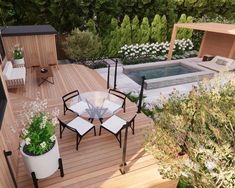
[{"label": "front-right black dining chair with white seat, beside the glass railing post", "polygon": [[99,135],[101,135],[101,129],[105,129],[108,132],[112,133],[117,141],[119,142],[120,148],[122,147],[122,129],[125,125],[128,125],[132,129],[132,134],[134,135],[135,132],[135,114],[130,121],[125,121],[124,119],[113,115],[109,119],[107,119],[103,124],[100,125]]}]

